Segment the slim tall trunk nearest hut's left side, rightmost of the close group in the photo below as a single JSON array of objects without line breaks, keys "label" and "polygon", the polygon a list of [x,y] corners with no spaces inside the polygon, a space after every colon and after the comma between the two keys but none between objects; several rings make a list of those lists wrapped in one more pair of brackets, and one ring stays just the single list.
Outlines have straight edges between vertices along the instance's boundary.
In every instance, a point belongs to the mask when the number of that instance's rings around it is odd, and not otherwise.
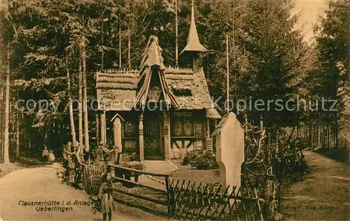
[{"label": "slim tall trunk nearest hut's left side, rightmost of the close group", "polygon": [[81,50],[81,59],[83,60],[83,113],[84,113],[84,135],[85,135],[85,151],[90,151],[89,145],[89,120],[87,113],[87,85],[86,85],[86,45],[85,37],[83,39],[83,48]]}]

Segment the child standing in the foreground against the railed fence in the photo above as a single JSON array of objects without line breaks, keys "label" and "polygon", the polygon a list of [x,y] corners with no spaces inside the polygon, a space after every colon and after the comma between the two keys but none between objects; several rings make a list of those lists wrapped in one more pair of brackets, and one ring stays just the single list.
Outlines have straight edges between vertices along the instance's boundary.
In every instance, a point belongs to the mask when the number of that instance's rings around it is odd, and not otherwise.
[{"label": "child standing in the foreground against the railed fence", "polygon": [[99,188],[99,199],[101,199],[101,213],[104,220],[107,219],[107,213],[109,220],[112,220],[112,211],[116,211],[116,202],[113,201],[112,192],[113,186],[111,182],[111,173],[105,173],[102,176],[102,186]]}]

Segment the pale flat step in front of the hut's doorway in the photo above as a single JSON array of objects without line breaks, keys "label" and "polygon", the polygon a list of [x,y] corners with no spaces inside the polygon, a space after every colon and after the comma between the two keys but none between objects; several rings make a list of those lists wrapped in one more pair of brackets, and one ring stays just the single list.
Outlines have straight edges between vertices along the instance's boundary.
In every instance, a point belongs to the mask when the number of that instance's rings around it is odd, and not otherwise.
[{"label": "pale flat step in front of the hut's doorway", "polygon": [[177,166],[165,160],[144,160],[142,168],[148,173],[169,173],[179,169]]}]

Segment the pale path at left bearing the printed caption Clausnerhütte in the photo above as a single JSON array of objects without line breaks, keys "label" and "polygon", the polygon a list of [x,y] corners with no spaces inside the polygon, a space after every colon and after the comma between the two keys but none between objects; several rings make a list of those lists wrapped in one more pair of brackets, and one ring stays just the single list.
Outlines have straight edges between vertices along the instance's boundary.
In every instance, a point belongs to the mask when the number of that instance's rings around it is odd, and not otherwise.
[{"label": "pale path at left bearing the printed caption Clausnerh\u00fctte", "polygon": [[[83,190],[61,183],[56,171],[55,165],[41,166],[16,170],[0,178],[0,220],[102,220],[101,213],[93,214],[91,206],[87,206],[89,196]],[[24,206],[45,201],[55,205]],[[67,205],[69,201],[71,205]],[[76,205],[73,205],[75,202]],[[160,220],[123,205],[119,205],[118,212],[113,213],[113,220],[146,219]]]}]

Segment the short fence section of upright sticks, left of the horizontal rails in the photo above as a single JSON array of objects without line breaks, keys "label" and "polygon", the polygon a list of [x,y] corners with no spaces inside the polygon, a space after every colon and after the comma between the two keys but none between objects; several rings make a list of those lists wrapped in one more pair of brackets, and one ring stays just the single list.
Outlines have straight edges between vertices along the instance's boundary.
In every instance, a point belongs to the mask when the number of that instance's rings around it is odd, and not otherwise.
[{"label": "short fence section of upright sticks, left of the horizontal rails", "polygon": [[83,170],[83,186],[87,194],[97,196],[102,185],[101,176],[106,172],[105,165],[86,165]]}]

